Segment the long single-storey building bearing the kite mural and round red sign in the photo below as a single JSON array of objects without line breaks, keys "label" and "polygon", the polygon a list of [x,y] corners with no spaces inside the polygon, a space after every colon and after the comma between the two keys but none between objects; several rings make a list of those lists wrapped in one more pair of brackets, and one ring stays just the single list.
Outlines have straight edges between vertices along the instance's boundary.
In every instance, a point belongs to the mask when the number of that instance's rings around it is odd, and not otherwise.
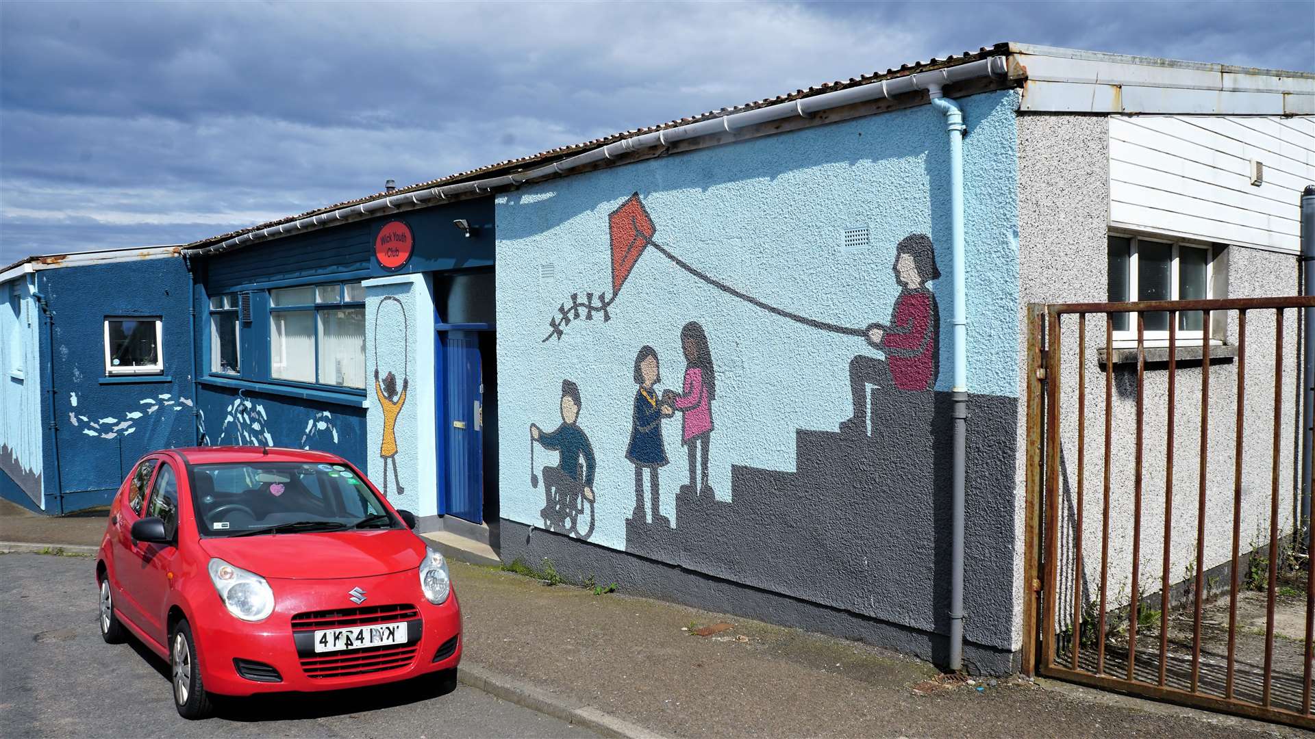
[{"label": "long single-storey building bearing the kite mural and round red sign", "polygon": [[[187,245],[203,441],[337,451],[506,561],[1005,673],[1032,594],[1027,304],[1297,295],[1311,181],[1311,72],[1019,43],[906,64]],[[1227,385],[1235,323],[1174,321]],[[1098,330],[1122,463],[1135,366]],[[1243,476],[1268,490],[1270,464]]]}]

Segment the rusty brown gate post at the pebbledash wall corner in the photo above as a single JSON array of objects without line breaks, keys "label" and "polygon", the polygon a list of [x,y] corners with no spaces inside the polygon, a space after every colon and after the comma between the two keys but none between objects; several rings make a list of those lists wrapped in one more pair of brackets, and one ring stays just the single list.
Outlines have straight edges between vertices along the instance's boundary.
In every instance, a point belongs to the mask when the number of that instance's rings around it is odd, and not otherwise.
[{"label": "rusty brown gate post at the pebbledash wall corner", "polygon": [[1027,410],[1023,493],[1023,651],[1020,671],[1027,677],[1036,675],[1036,647],[1040,636],[1038,611],[1040,606],[1041,561],[1041,442],[1044,434],[1044,388],[1041,376],[1045,367],[1045,305],[1027,305]]}]

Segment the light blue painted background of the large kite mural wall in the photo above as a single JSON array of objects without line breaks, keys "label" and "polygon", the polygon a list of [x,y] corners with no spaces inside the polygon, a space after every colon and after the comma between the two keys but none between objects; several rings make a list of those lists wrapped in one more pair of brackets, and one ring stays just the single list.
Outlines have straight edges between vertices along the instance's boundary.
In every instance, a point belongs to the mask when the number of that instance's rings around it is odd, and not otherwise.
[{"label": "light blue painted background of the large kite mural wall", "polygon": [[[969,274],[968,372],[977,394],[1016,397],[1018,95],[963,99]],[[572,322],[544,342],[572,293],[611,292],[608,216],[638,192],[654,239],[709,275],[767,302],[846,326],[888,322],[898,287],[894,245],[927,233],[942,279],[938,391],[951,383],[948,154],[944,120],[918,107],[572,176],[497,200],[497,326],[502,517],[538,525],[529,484],[529,425],[556,427],[563,379],[580,385],[580,426],[598,459],[590,540],[625,547],[634,467],[625,451],[643,345],[661,362],[659,389],[679,389],[680,330],[700,321],[717,363],[711,487],[729,497],[732,464],[793,471],[798,429],[835,430],[851,413],[848,363],[876,354],[859,338],[785,321],[713,289],[652,249],[610,306],[610,321]],[[847,227],[871,246],[842,250]],[[551,266],[551,267],[544,267]],[[663,514],[685,481],[679,417],[664,423]],[[1011,443],[1011,439],[1007,439]],[[535,465],[555,452],[535,450]],[[819,505],[825,505],[819,501]],[[584,523],[580,525],[584,529]]]}]

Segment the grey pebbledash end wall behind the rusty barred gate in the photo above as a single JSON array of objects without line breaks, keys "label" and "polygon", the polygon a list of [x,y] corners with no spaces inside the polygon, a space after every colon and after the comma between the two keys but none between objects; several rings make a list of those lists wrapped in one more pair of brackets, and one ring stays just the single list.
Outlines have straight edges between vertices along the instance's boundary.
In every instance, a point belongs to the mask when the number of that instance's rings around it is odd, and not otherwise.
[{"label": "grey pebbledash end wall behind the rusty barred gate", "polygon": [[[1139,117],[1145,125],[1156,125],[1151,116]],[[1228,118],[1223,116],[1194,117],[1194,126],[1212,129]],[[1164,230],[1130,230],[1118,224],[1111,225],[1111,159],[1119,164],[1123,155],[1118,151],[1119,139],[1111,135],[1111,129],[1124,125],[1126,118],[1090,116],[1023,113],[1018,116],[1019,138],[1019,243],[1020,243],[1020,320],[1028,302],[1081,302],[1105,301],[1106,275],[1109,268],[1107,234],[1141,233],[1160,241],[1173,241]],[[1266,118],[1248,118],[1249,125],[1264,125]],[[1303,124],[1301,118],[1287,121]],[[1308,125],[1308,124],[1306,124]],[[1310,126],[1315,133],[1315,126]],[[1237,134],[1245,129],[1237,128]],[[1257,147],[1264,142],[1255,135],[1243,135],[1236,146]],[[1299,139],[1315,141],[1315,139]],[[1193,156],[1205,162],[1215,171],[1218,185],[1215,193],[1231,191],[1237,199],[1262,195],[1285,204],[1291,217],[1297,216],[1295,188],[1293,192],[1278,192],[1270,181],[1264,188],[1251,184],[1247,155],[1216,154],[1199,146],[1187,147],[1180,143],[1172,149],[1178,159],[1180,170],[1190,171]],[[1111,154],[1111,149],[1115,151]],[[1160,159],[1168,154],[1152,153]],[[1141,153],[1145,163],[1157,164],[1157,159]],[[1251,156],[1265,158],[1270,163],[1278,158],[1274,153],[1253,149]],[[1173,159],[1170,159],[1173,160]],[[1198,164],[1201,167],[1201,164]],[[1279,174],[1282,176],[1282,174]],[[1306,178],[1315,178],[1315,167],[1306,166]],[[1276,179],[1276,178],[1272,178]],[[1302,178],[1293,178],[1297,183]],[[1114,180],[1118,184],[1118,180]],[[1286,203],[1285,203],[1286,201]],[[1252,216],[1235,209],[1220,208],[1214,213],[1216,220],[1207,233],[1190,239],[1194,243],[1214,245],[1215,297],[1266,297],[1291,296],[1298,293],[1297,254],[1283,251],[1295,243],[1260,249],[1237,243],[1224,243],[1237,227],[1230,218],[1252,222]],[[1166,217],[1169,217],[1166,214]],[[1174,216],[1177,217],[1177,216]],[[1279,224],[1289,218],[1273,218]],[[1279,231],[1282,226],[1273,226]],[[1212,237],[1212,238],[1211,238]],[[1056,247],[1063,245],[1063,247]],[[1297,383],[1301,371],[1298,351],[1297,312],[1285,312],[1282,384],[1281,447],[1279,471],[1279,518],[1281,536],[1291,534],[1298,519],[1301,485],[1297,473],[1297,448],[1299,437],[1299,398]],[[1057,592],[1060,602],[1059,629],[1072,622],[1072,598],[1074,577],[1074,527],[1077,515],[1077,322],[1068,317],[1061,329],[1061,509],[1060,509],[1060,579]],[[1207,473],[1206,473],[1206,539],[1203,561],[1206,588],[1212,593],[1228,589],[1228,560],[1232,556],[1232,506],[1233,506],[1233,448],[1237,409],[1237,313],[1227,312],[1215,316],[1212,337],[1222,343],[1211,350],[1214,360],[1210,367],[1210,412],[1207,423]],[[1101,531],[1102,510],[1101,490],[1103,469],[1105,434],[1105,362],[1099,358],[1105,346],[1103,316],[1088,317],[1086,346],[1086,464],[1084,506],[1084,568],[1081,593],[1084,605],[1091,605],[1099,598],[1101,583]],[[1241,522],[1240,554],[1264,548],[1269,542],[1269,506],[1272,490],[1272,439],[1274,423],[1274,312],[1252,310],[1247,320],[1247,383],[1244,408],[1244,446],[1241,469]],[[1026,363],[1026,330],[1019,333],[1019,392],[1026,388],[1022,371]],[[1193,347],[1195,348],[1195,347]],[[1170,594],[1180,584],[1194,579],[1197,547],[1197,513],[1199,492],[1199,451],[1201,451],[1201,380],[1202,368],[1198,359],[1186,359],[1190,350],[1180,348],[1178,371],[1176,376],[1174,414],[1174,479],[1173,510],[1170,530]],[[1141,540],[1139,589],[1143,597],[1152,597],[1159,609],[1156,594],[1161,589],[1164,556],[1165,518],[1165,444],[1166,438],[1166,398],[1168,371],[1164,359],[1148,359],[1145,368],[1145,409],[1144,438],[1145,462],[1141,497]],[[1136,364],[1116,362],[1114,364],[1114,413],[1112,444],[1110,468],[1110,548],[1109,548],[1109,601],[1110,608],[1124,606],[1131,597],[1132,569],[1132,518],[1134,518],[1134,469],[1135,469],[1135,419],[1136,419]],[[1019,408],[1018,444],[1024,443],[1024,409]],[[1023,542],[1023,469],[1026,455],[1016,459],[1019,481],[1015,523],[1019,527],[1018,540]],[[1022,558],[1022,547],[1018,556]],[[1019,563],[1022,560],[1019,559]],[[1020,567],[1020,564],[1019,564]],[[1019,597],[1023,593],[1022,581],[1016,585]],[[1066,601],[1066,602],[1065,602]]]}]

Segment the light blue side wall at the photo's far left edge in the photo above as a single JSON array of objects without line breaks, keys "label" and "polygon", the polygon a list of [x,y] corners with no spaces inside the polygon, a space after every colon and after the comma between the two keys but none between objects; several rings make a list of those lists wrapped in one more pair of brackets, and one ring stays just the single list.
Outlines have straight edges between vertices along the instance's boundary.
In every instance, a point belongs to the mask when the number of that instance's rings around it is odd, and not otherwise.
[{"label": "light blue side wall at the photo's far left edge", "polygon": [[4,494],[42,504],[41,308],[28,276],[0,283],[0,485]]}]

